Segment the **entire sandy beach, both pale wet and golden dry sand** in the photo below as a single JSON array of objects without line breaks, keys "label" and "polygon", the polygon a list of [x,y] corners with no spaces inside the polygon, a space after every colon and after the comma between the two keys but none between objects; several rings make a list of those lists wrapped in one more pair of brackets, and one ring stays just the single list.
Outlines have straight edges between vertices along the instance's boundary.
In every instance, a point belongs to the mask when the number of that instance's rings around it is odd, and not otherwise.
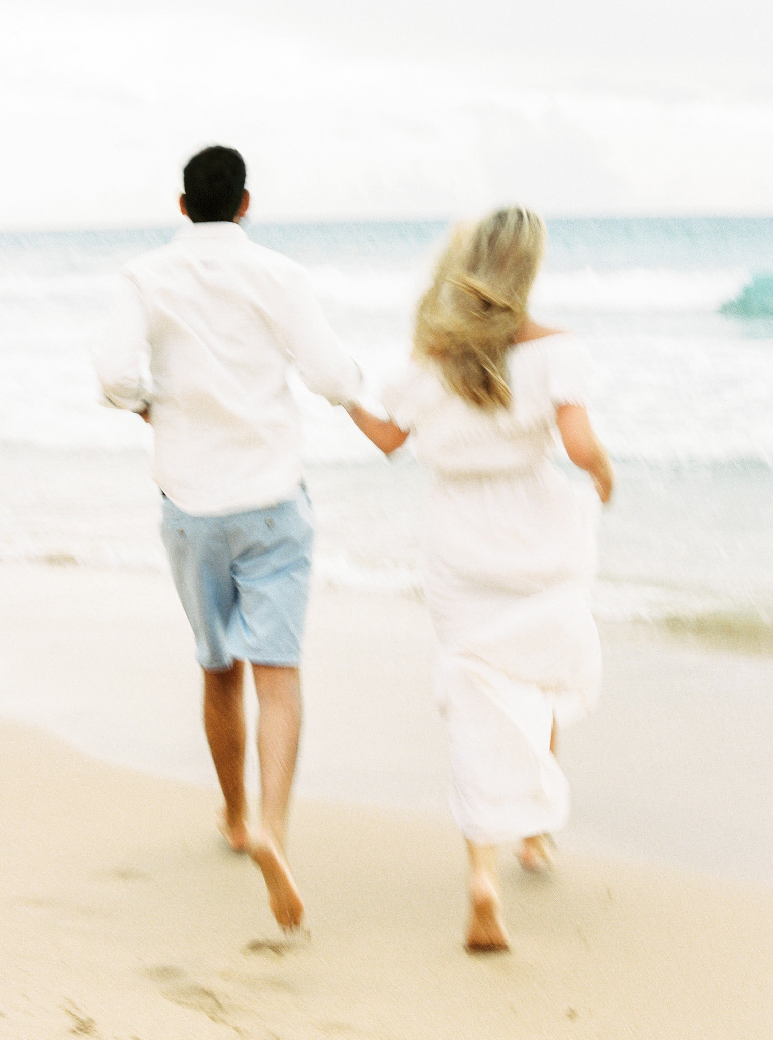
[{"label": "entire sandy beach, both pale wet and golden dry sand", "polygon": [[424,606],[318,587],[290,842],[310,935],[285,944],[214,827],[168,579],[0,577],[1,1037],[773,1032],[769,656],[605,628],[602,709],[563,742],[560,868],[504,850],[512,951],[471,957]]}]

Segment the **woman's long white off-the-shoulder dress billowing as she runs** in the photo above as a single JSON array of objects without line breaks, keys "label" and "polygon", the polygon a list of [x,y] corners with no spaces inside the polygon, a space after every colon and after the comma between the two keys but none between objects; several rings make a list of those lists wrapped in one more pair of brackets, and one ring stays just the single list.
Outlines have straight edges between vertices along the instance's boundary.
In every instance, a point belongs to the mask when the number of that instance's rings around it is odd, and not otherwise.
[{"label": "woman's long white off-the-shoulder dress billowing as she runs", "polygon": [[415,361],[383,404],[435,474],[425,528],[437,699],[451,808],[480,844],[559,830],[569,785],[550,751],[554,716],[595,705],[598,633],[588,590],[597,497],[551,461],[556,409],[585,405],[586,356],[566,333],[513,346],[512,404],[484,412]]}]

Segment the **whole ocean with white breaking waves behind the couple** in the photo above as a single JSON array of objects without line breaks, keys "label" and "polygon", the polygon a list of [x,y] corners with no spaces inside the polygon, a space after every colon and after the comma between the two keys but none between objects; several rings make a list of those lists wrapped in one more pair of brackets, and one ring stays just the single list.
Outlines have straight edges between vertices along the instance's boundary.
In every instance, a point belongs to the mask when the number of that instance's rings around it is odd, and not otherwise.
[{"label": "whole ocean with white breaking waves behind the couple", "polygon": [[[306,265],[376,396],[409,352],[447,225],[245,227]],[[617,470],[596,615],[773,649],[773,218],[548,227],[532,313],[586,342],[592,419]],[[0,562],[165,569],[152,432],[99,407],[91,357],[122,264],[171,233],[0,235]],[[426,474],[294,390],[317,579],[420,596]]]}]

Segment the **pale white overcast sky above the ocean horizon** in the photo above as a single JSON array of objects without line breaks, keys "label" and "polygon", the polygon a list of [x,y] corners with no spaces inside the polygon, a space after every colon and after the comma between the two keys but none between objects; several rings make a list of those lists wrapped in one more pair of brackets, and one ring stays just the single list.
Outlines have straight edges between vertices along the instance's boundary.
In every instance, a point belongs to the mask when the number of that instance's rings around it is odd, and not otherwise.
[{"label": "pale white overcast sky above the ocean horizon", "polygon": [[771,213],[772,8],[0,0],[0,228],[175,223],[213,141],[256,219]]}]

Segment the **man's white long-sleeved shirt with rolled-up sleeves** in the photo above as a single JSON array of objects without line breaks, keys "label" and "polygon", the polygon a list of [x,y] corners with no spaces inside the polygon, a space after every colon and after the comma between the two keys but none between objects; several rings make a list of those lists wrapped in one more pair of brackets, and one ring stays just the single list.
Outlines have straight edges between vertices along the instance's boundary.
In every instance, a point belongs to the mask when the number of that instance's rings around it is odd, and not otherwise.
[{"label": "man's white long-sleeved shirt with rolled-up sleeves", "polygon": [[124,276],[98,374],[113,406],[150,404],[156,483],[196,516],[291,499],[302,473],[290,366],[332,404],[361,385],[303,268],[213,223],[188,225]]}]

